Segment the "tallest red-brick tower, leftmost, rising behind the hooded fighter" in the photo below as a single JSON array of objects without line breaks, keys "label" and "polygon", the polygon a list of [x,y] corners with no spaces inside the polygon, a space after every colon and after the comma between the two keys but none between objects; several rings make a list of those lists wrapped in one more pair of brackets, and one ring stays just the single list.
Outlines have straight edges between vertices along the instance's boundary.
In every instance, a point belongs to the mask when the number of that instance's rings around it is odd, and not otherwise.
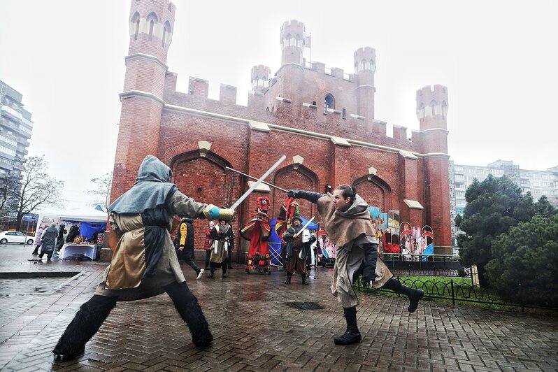
[{"label": "tallest red-brick tower, leftmost, rising behind the hooded fighter", "polygon": [[169,0],[131,0],[130,43],[124,58],[126,76],[120,93],[122,110],[111,200],[134,185],[145,155],[158,155],[166,57],[174,17],[175,6]]}]

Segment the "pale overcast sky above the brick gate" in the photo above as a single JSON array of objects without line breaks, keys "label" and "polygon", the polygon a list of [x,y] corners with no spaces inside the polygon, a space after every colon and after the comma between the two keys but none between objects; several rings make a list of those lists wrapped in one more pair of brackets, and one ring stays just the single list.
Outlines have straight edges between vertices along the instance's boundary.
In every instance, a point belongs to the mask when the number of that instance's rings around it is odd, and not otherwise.
[{"label": "pale overcast sky above the brick gate", "polygon": [[[311,57],[353,72],[376,50],[375,118],[418,129],[415,92],[448,87],[449,153],[458,164],[558,165],[558,1],[177,0],[167,65],[238,87],[250,69],[280,66],[282,22],[312,33]],[[241,5],[239,5],[241,4]],[[128,0],[0,0],[0,80],[23,94],[34,122],[29,155],[66,183],[67,207],[90,201],[90,179],[112,171],[129,34]],[[309,50],[305,56],[308,58]]]}]

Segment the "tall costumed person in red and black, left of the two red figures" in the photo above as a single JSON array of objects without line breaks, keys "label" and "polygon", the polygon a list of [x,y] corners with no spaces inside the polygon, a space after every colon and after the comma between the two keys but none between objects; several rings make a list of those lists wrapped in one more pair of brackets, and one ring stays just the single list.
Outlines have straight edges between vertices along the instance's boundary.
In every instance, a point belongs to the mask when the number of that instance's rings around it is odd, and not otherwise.
[{"label": "tall costumed person in red and black, left of the two red figures", "polygon": [[269,259],[269,236],[271,235],[269,197],[259,196],[256,203],[257,208],[254,218],[241,229],[241,236],[250,241],[246,273],[255,271],[255,261],[257,261],[260,274],[271,274],[271,271],[269,271],[269,265],[271,264]]}]

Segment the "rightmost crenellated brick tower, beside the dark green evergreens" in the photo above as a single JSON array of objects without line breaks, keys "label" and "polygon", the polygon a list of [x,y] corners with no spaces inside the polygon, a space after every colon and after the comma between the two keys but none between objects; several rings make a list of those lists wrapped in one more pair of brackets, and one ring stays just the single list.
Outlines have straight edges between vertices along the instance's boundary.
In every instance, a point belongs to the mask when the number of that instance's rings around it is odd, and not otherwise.
[{"label": "rightmost crenellated brick tower, beside the dark green evergreens", "polygon": [[[448,166],[448,88],[427,86],[417,90],[417,117],[424,156],[425,217],[436,226],[436,245],[451,247],[450,179]],[[445,254],[451,254],[450,249]]]}]

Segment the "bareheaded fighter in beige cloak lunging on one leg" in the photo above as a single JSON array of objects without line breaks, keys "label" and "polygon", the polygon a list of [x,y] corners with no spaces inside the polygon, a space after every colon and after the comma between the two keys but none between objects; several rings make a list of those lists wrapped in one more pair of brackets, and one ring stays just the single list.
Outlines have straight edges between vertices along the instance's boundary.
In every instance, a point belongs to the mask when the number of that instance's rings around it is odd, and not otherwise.
[{"label": "bareheaded fighter in beige cloak lunging on one leg", "polygon": [[392,279],[393,274],[378,257],[378,241],[375,240],[368,205],[354,187],[341,185],[334,190],[333,195],[291,190],[289,196],[317,203],[321,216],[320,226],[327,231],[329,240],[338,247],[331,278],[331,293],[343,306],[347,331],[343,336],[334,338],[336,345],[348,345],[362,340],[357,327],[359,300],[352,287],[354,279],[360,273],[363,274],[364,281],[371,283],[375,289],[383,287],[406,294],[410,300],[409,312],[417,310],[418,301],[423,295],[422,290],[411,289]]}]

